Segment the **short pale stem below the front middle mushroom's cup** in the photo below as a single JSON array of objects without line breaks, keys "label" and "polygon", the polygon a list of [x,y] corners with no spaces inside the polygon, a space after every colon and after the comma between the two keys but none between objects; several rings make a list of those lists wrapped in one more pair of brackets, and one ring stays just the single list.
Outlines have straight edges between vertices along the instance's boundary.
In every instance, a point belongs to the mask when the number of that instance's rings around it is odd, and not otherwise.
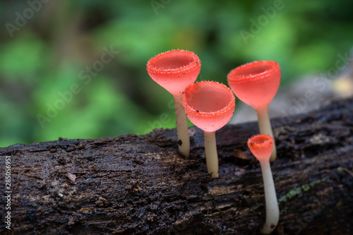
[{"label": "short pale stem below the front middle mushroom's cup", "polygon": [[217,145],[216,145],[216,135],[215,131],[208,132],[203,131],[205,136],[205,155],[206,155],[206,165],[208,174],[211,174],[212,178],[218,177],[218,155],[217,155]]}]

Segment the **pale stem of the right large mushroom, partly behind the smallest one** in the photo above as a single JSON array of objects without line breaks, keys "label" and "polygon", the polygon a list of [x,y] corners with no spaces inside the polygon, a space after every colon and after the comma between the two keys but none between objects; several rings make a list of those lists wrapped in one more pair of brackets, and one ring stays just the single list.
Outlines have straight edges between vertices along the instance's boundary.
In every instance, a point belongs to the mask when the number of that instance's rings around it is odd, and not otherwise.
[{"label": "pale stem of the right large mushroom, partly behind the smallest one", "polygon": [[273,137],[273,131],[270,123],[270,117],[268,116],[268,106],[263,109],[256,109],[258,114],[258,129],[261,135],[270,135],[273,138],[273,152],[270,157],[270,162],[275,162],[277,158],[277,148],[275,138]]}]

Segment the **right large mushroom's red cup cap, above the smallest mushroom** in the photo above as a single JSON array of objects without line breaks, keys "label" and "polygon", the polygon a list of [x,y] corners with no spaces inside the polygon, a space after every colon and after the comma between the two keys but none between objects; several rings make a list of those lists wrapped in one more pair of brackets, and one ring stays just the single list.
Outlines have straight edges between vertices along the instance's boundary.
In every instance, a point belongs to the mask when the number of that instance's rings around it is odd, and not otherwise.
[{"label": "right large mushroom's red cup cap, above the smallest mushroom", "polygon": [[234,94],[255,109],[270,104],[280,80],[280,65],[275,61],[254,61],[228,74],[228,85]]}]

